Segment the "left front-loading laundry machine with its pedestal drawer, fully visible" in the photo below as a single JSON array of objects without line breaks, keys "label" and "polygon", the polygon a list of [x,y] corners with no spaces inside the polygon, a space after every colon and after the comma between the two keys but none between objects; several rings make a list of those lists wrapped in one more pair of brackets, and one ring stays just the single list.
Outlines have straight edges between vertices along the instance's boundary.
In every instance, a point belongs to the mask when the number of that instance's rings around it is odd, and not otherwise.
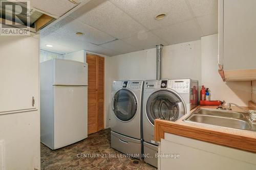
[{"label": "left front-loading laundry machine with its pedestal drawer, fully visible", "polygon": [[114,81],[112,86],[111,147],[141,158],[143,81]]}]

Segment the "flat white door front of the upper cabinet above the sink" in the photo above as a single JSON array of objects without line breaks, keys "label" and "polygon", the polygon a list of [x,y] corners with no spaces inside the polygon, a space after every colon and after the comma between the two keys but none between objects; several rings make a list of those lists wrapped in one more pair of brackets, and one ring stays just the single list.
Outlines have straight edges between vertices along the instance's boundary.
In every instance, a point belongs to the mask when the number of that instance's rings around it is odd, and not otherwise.
[{"label": "flat white door front of the upper cabinet above the sink", "polygon": [[255,69],[256,1],[224,0],[223,7],[224,70]]}]

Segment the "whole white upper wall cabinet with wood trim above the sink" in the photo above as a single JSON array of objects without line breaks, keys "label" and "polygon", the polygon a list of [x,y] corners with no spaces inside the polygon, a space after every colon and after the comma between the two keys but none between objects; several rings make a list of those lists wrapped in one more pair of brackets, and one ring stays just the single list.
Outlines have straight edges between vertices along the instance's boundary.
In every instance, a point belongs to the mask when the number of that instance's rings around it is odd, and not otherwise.
[{"label": "whole white upper wall cabinet with wood trim above the sink", "polygon": [[219,0],[219,72],[223,81],[256,80],[256,1]]}]

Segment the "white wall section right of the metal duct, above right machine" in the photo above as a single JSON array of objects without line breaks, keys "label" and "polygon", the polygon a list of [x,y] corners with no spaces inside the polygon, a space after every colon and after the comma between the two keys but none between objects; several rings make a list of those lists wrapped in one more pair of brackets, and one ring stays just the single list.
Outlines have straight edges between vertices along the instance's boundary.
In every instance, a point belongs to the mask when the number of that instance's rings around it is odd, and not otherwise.
[{"label": "white wall section right of the metal duct, above right machine", "polygon": [[162,78],[191,78],[201,83],[201,41],[164,46]]}]

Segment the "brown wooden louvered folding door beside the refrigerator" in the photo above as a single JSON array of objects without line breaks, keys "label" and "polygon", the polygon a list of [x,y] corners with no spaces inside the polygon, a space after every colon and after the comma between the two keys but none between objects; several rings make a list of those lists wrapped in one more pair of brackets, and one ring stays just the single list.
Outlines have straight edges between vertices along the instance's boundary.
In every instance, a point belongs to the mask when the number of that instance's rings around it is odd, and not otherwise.
[{"label": "brown wooden louvered folding door beside the refrigerator", "polygon": [[104,58],[87,54],[88,134],[104,128]]}]

